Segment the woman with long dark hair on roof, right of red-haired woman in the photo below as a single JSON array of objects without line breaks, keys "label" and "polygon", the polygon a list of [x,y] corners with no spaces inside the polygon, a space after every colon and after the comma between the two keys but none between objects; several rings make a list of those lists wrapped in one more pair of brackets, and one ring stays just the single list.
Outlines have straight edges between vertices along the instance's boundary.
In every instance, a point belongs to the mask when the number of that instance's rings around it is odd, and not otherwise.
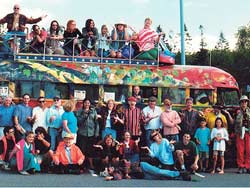
[{"label": "woman with long dark hair on roof, right of red-haired woman", "polygon": [[82,51],[90,51],[90,56],[95,56],[95,45],[98,38],[98,30],[95,27],[95,22],[93,19],[87,19],[85,22],[85,27],[82,28]]}]

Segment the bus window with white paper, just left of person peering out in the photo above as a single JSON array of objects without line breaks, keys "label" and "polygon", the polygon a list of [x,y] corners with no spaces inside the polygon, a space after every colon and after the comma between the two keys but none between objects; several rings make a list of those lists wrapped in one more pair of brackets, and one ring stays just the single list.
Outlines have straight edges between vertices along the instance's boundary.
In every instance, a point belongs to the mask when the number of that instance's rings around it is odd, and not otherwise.
[{"label": "bus window with white paper, just left of person peering out", "polygon": [[107,98],[111,99],[114,98],[115,101],[125,102],[126,98],[128,97],[128,91],[129,91],[128,86],[104,85],[103,88],[104,88],[104,95],[106,95]]}]

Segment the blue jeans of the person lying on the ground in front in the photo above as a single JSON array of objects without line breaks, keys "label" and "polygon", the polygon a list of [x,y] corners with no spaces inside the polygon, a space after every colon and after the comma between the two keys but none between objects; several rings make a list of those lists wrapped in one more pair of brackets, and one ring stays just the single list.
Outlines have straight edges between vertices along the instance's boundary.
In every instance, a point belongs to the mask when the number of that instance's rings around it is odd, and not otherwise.
[{"label": "blue jeans of the person lying on the ground in front", "polygon": [[147,162],[141,162],[140,165],[145,179],[175,178],[180,176],[179,171],[160,169]]}]

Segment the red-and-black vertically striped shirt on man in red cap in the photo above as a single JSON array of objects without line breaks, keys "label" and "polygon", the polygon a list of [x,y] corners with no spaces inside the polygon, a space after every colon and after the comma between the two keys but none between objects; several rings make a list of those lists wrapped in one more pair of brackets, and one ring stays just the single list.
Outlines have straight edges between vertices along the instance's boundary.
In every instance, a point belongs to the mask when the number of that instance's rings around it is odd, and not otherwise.
[{"label": "red-and-black vertically striped shirt on man in red cap", "polygon": [[133,136],[140,135],[141,113],[141,109],[137,107],[134,109],[127,108],[125,110],[125,130],[129,131]]}]

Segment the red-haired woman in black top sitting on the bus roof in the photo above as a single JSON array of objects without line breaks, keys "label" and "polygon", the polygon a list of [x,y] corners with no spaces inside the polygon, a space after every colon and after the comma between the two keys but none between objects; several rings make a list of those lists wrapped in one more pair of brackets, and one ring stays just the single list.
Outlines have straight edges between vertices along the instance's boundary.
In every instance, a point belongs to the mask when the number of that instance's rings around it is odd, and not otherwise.
[{"label": "red-haired woman in black top sitting on the bus roof", "polygon": [[82,33],[76,27],[75,20],[69,20],[67,22],[66,30],[64,31],[63,37],[64,41],[64,54],[65,55],[79,55],[81,53],[81,49],[78,45],[78,39],[83,38]]}]

